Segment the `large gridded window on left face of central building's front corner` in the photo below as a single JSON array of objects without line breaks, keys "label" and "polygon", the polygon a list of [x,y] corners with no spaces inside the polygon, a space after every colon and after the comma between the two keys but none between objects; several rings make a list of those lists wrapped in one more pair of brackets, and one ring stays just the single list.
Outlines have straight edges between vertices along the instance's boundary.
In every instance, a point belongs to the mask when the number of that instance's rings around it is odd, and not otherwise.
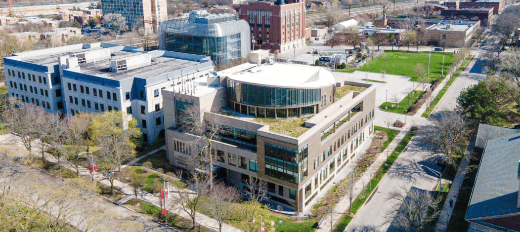
[{"label": "large gridded window on left face of central building's front corner", "polygon": [[275,178],[298,183],[298,152],[294,149],[265,143],[265,173]]}]

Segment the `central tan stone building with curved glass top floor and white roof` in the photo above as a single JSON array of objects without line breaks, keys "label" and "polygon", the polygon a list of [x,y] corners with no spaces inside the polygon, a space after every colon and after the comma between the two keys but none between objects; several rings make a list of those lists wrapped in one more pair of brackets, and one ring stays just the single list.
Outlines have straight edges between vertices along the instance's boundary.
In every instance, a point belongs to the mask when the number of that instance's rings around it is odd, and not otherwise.
[{"label": "central tan stone building with curved glass top floor and white roof", "polygon": [[[200,110],[200,120],[216,117],[227,128],[212,142],[217,179],[239,189],[248,187],[250,177],[265,180],[271,200],[298,212],[327,191],[373,131],[375,87],[336,83],[319,67],[246,63],[193,82],[189,90],[174,86],[162,91],[170,163],[192,168],[198,154],[188,148],[195,135],[179,127],[190,105]],[[344,85],[366,89],[336,96],[336,88]],[[298,119],[302,125],[277,131],[263,118],[281,123]]]}]

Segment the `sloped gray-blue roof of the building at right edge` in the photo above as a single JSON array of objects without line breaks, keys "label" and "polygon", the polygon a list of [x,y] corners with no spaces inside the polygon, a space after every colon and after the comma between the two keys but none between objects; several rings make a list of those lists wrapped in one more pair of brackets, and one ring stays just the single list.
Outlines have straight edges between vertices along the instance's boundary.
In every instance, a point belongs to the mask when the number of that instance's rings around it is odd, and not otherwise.
[{"label": "sloped gray-blue roof of the building at right edge", "polygon": [[520,214],[518,196],[520,134],[488,140],[480,160],[466,220],[505,214]]}]

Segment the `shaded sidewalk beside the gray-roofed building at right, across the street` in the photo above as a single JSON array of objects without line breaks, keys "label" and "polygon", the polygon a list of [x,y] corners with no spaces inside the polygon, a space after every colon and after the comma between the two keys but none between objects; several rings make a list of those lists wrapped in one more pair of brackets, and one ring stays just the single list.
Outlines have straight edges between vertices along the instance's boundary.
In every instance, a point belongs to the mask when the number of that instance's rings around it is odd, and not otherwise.
[{"label": "shaded sidewalk beside the gray-roofed building at right, across the street", "polygon": [[[437,221],[437,225],[435,225],[435,231],[447,231],[448,227],[448,219],[451,219],[451,214],[453,213],[453,207],[457,204],[457,200],[459,199],[459,191],[464,181],[465,171],[467,166],[470,163],[471,154],[473,154],[473,149],[475,148],[475,141],[477,139],[477,134],[473,133],[470,143],[467,145],[466,151],[464,152],[464,156],[462,157],[462,161],[460,162],[459,170],[453,179],[453,184],[450,187],[450,191],[448,192],[448,197],[446,197],[446,201],[444,202],[444,207],[440,212],[439,220]],[[449,200],[453,200],[453,207],[450,207]],[[448,217],[448,213],[450,216]]]}]

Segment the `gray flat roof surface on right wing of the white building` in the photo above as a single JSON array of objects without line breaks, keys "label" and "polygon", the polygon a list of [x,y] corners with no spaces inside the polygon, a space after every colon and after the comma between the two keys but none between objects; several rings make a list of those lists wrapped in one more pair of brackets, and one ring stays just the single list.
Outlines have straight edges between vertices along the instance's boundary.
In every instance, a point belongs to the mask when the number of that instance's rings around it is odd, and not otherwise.
[{"label": "gray flat roof surface on right wing of the white building", "polygon": [[[132,52],[119,51],[112,52],[111,58],[120,56],[127,56],[133,54]],[[151,63],[146,66],[137,67],[131,70],[121,70],[119,72],[112,72],[110,67],[110,59],[97,61],[96,63],[86,63],[80,65],[80,73],[100,76],[104,78],[122,80],[129,77],[150,78],[164,73],[173,72],[175,70],[184,69],[186,67],[199,64],[197,61],[180,60],[169,57],[156,57],[151,59]]]}]

